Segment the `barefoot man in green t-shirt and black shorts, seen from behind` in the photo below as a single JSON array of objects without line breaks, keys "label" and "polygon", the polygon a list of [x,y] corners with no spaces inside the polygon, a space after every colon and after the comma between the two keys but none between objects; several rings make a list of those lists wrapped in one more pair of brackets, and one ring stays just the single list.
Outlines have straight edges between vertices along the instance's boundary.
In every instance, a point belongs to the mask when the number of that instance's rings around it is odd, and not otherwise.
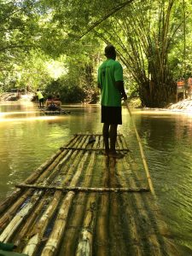
[{"label": "barefoot man in green t-shirt and black shorts, seen from behind", "polygon": [[[122,125],[121,98],[127,99],[123,68],[116,59],[116,50],[113,45],[105,48],[107,60],[98,69],[98,87],[101,89],[102,105],[102,135],[105,145],[105,154],[114,158],[121,158],[115,150],[117,127]],[[110,147],[108,139],[110,139]]]}]

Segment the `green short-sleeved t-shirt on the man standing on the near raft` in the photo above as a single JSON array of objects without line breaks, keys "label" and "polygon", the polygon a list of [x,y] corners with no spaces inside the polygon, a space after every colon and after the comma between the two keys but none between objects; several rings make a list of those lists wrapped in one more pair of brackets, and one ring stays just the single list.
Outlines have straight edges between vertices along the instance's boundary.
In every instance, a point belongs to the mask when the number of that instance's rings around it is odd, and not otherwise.
[{"label": "green short-sleeved t-shirt on the man standing on the near raft", "polygon": [[97,78],[102,90],[102,106],[121,106],[121,94],[115,85],[117,81],[123,81],[123,68],[119,61],[113,59],[104,61],[98,69]]}]

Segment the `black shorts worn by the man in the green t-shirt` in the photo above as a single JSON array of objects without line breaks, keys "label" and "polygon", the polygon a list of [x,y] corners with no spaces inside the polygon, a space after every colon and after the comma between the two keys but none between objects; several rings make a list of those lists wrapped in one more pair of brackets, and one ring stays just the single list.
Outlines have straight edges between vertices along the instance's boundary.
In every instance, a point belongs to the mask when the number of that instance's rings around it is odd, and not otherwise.
[{"label": "black shorts worn by the man in the green t-shirt", "polygon": [[102,106],[102,123],[108,125],[122,125],[121,107]]}]

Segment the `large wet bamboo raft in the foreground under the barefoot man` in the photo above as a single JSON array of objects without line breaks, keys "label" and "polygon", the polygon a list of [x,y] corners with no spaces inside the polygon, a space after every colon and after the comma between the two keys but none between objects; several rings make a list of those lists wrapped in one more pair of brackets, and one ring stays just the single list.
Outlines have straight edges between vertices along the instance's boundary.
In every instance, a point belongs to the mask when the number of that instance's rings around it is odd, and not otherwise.
[{"label": "large wet bamboo raft in the foreground under the barefoot man", "polygon": [[180,255],[125,137],[116,160],[94,136],[75,135],[17,185],[0,205],[0,241],[26,255]]}]

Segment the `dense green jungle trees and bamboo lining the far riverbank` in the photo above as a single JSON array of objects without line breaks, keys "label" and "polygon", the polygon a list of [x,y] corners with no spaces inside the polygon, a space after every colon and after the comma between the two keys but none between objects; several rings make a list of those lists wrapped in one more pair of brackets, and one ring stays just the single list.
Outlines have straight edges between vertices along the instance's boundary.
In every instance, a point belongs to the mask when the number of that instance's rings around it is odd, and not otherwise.
[{"label": "dense green jungle trees and bamboo lining the far riverbank", "polygon": [[0,0],[0,92],[39,88],[96,102],[96,71],[113,44],[128,96],[174,102],[192,75],[190,0]]}]

